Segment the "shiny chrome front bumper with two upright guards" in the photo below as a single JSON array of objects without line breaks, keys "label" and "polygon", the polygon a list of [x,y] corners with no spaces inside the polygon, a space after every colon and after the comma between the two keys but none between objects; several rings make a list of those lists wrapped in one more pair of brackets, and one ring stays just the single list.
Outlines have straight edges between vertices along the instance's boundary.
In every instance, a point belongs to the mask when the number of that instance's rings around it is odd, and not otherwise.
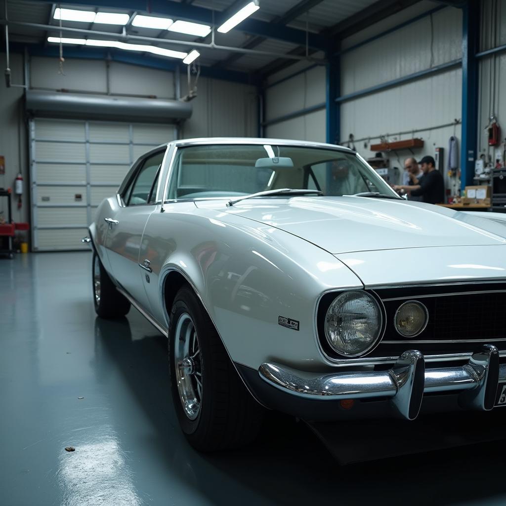
[{"label": "shiny chrome front bumper with two upright guards", "polygon": [[426,369],[424,356],[419,351],[409,350],[387,371],[311,375],[264,363],[259,374],[270,385],[306,399],[388,397],[400,416],[413,420],[418,416],[424,393],[429,392],[454,392],[463,409],[492,409],[497,385],[499,381],[506,381],[506,364],[499,365],[495,346],[484,345],[460,367]]}]

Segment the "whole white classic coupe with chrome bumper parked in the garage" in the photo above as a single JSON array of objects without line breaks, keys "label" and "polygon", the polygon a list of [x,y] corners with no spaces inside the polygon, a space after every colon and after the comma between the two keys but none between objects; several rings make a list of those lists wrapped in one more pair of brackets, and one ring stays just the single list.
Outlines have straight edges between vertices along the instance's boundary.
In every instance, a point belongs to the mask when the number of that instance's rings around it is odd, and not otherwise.
[{"label": "whole white classic coupe with chrome bumper parked in the garage", "polygon": [[193,139],[141,156],[83,241],[97,314],[168,336],[181,429],[210,451],[265,408],[506,405],[505,217],[402,199],[344,147]]}]

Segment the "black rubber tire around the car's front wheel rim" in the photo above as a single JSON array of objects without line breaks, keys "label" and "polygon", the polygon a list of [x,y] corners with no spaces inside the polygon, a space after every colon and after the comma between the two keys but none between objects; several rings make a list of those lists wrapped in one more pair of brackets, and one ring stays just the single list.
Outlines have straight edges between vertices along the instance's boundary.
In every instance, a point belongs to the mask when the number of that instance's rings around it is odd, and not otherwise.
[{"label": "black rubber tire around the car's front wheel rim", "polygon": [[[195,419],[183,408],[176,378],[176,330],[181,317],[189,315],[198,336],[198,369],[201,372],[201,402]],[[248,392],[235,370],[207,312],[190,287],[176,294],[168,327],[168,361],[171,390],[179,424],[197,450],[212,452],[238,448],[258,435],[265,408]]]}]

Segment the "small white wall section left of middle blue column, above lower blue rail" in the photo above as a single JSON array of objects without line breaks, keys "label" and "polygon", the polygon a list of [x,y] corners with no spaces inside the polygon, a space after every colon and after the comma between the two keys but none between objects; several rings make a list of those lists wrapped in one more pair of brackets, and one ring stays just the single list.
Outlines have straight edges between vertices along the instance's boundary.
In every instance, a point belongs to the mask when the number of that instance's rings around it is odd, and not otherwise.
[{"label": "small white wall section left of middle blue column, above lower blue rail", "polygon": [[325,101],[325,67],[316,67],[268,88],[266,119],[277,118]]}]

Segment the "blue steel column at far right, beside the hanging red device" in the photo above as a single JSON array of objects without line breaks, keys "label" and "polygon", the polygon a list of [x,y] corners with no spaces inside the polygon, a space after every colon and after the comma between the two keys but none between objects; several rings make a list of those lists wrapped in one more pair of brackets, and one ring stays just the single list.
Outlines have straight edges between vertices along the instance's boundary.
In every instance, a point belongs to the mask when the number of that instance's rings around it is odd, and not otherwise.
[{"label": "blue steel column at far right, beside the hanging red device", "polygon": [[480,5],[469,0],[462,8],[462,142],[460,182],[473,184],[478,142],[478,61]]}]

